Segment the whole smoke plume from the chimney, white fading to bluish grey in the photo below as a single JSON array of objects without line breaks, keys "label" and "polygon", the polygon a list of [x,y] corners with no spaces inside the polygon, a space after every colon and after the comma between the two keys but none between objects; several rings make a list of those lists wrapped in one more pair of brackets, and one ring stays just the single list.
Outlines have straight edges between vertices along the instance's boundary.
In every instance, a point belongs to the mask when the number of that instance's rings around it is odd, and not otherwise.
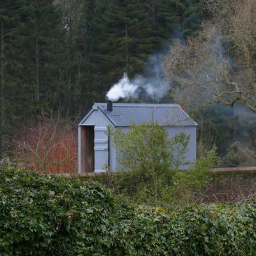
[{"label": "whole smoke plume from the chimney, white fading to bluish grey", "polygon": [[147,70],[147,74],[136,75],[129,79],[127,73],[124,73],[122,79],[114,84],[107,93],[107,97],[111,101],[119,99],[150,97],[159,100],[166,95],[170,88],[170,84],[166,83],[161,76],[161,63],[156,55],[150,56],[148,59],[151,66]]}]

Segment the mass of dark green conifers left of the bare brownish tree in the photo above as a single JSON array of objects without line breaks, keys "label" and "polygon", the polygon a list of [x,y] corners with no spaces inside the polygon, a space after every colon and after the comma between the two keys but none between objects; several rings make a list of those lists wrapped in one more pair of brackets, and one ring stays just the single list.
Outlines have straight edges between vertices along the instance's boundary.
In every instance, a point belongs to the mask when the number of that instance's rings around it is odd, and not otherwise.
[{"label": "mass of dark green conifers left of the bare brownish tree", "polygon": [[0,150],[41,109],[80,118],[124,72],[141,72],[173,33],[191,35],[200,3],[183,2],[1,1]]}]

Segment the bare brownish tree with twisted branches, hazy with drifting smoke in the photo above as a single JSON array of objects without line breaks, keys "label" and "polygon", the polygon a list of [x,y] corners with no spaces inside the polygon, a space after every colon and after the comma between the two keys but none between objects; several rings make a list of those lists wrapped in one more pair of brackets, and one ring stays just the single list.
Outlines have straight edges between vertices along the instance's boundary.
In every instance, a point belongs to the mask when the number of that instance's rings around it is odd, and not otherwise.
[{"label": "bare brownish tree with twisted branches, hazy with drifting smoke", "polygon": [[175,100],[187,109],[241,102],[256,113],[256,2],[208,0],[205,10],[212,20],[164,58]]}]

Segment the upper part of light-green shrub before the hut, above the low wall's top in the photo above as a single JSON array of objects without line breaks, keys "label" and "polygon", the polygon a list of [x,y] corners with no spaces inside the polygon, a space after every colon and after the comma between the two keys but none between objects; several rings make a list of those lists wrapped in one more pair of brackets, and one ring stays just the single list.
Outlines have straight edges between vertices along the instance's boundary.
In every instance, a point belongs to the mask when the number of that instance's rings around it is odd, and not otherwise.
[{"label": "upper part of light-green shrub before the hut, above the low wall's top", "polygon": [[129,132],[109,127],[113,145],[118,151],[120,170],[165,172],[186,164],[189,136],[181,132],[168,138],[166,129],[156,122],[131,125]]}]

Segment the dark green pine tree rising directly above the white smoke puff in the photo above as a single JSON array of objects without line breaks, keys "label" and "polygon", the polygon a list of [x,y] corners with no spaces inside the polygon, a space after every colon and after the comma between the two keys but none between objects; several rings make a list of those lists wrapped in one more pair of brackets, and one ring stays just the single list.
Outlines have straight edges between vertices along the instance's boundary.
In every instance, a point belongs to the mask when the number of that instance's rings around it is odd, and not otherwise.
[{"label": "dark green pine tree rising directly above the white smoke puff", "polygon": [[154,46],[150,20],[142,1],[113,1],[108,28],[117,76],[142,70]]}]

